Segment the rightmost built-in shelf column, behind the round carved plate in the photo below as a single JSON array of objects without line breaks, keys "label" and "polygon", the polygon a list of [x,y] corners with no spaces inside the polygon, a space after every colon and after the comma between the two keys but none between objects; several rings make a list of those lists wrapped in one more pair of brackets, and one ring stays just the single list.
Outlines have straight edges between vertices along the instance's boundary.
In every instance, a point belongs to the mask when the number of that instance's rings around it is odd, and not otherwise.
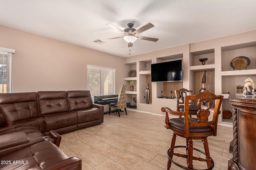
[{"label": "rightmost built-in shelf column, behind the round carved plate", "polygon": [[[250,65],[243,70],[234,70],[230,66],[230,62],[239,56],[248,57],[250,59]],[[221,78],[221,92],[224,96],[222,111],[229,110],[232,112],[232,107],[228,100],[229,94],[226,93],[236,93],[236,86],[244,86],[244,80],[246,78],[256,80],[256,41],[221,47],[220,60],[222,61],[222,70],[219,78]],[[222,122],[230,123],[230,120],[222,119]]]}]

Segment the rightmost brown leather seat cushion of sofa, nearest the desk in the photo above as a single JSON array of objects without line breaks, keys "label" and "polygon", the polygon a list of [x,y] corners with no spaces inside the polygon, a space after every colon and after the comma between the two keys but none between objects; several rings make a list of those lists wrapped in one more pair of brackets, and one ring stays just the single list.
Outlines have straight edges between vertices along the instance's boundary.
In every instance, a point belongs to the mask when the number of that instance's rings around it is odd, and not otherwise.
[{"label": "rightmost brown leather seat cushion of sofa, nearest the desk", "polygon": [[78,115],[78,123],[84,123],[101,118],[100,109],[92,107],[90,109],[84,109],[76,111]]}]

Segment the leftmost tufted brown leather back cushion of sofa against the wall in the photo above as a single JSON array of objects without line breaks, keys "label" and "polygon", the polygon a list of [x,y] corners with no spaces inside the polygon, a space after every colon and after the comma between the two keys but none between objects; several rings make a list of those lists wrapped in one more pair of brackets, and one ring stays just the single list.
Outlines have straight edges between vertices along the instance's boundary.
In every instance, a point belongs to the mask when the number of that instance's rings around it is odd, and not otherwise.
[{"label": "leftmost tufted brown leather back cushion of sofa against the wall", "polygon": [[39,116],[36,92],[0,94],[0,109],[7,123]]}]

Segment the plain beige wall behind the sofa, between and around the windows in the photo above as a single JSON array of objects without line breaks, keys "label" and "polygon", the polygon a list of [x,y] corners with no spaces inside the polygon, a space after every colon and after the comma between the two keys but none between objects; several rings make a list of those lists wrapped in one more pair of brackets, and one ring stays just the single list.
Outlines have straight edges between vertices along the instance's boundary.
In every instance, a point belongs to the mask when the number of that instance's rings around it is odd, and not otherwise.
[{"label": "plain beige wall behind the sofa, between and around the windows", "polygon": [[12,57],[12,92],[87,90],[87,64],[91,64],[116,68],[118,94],[130,70],[122,57],[2,25],[0,47],[15,49]]}]

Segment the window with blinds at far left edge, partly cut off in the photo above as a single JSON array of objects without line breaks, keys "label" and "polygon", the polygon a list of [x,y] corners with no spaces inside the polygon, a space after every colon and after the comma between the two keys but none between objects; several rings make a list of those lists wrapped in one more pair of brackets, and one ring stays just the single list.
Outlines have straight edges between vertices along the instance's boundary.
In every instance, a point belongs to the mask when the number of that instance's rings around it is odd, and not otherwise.
[{"label": "window with blinds at far left edge, partly cut off", "polygon": [[0,93],[12,92],[12,54],[14,49],[0,47]]}]

